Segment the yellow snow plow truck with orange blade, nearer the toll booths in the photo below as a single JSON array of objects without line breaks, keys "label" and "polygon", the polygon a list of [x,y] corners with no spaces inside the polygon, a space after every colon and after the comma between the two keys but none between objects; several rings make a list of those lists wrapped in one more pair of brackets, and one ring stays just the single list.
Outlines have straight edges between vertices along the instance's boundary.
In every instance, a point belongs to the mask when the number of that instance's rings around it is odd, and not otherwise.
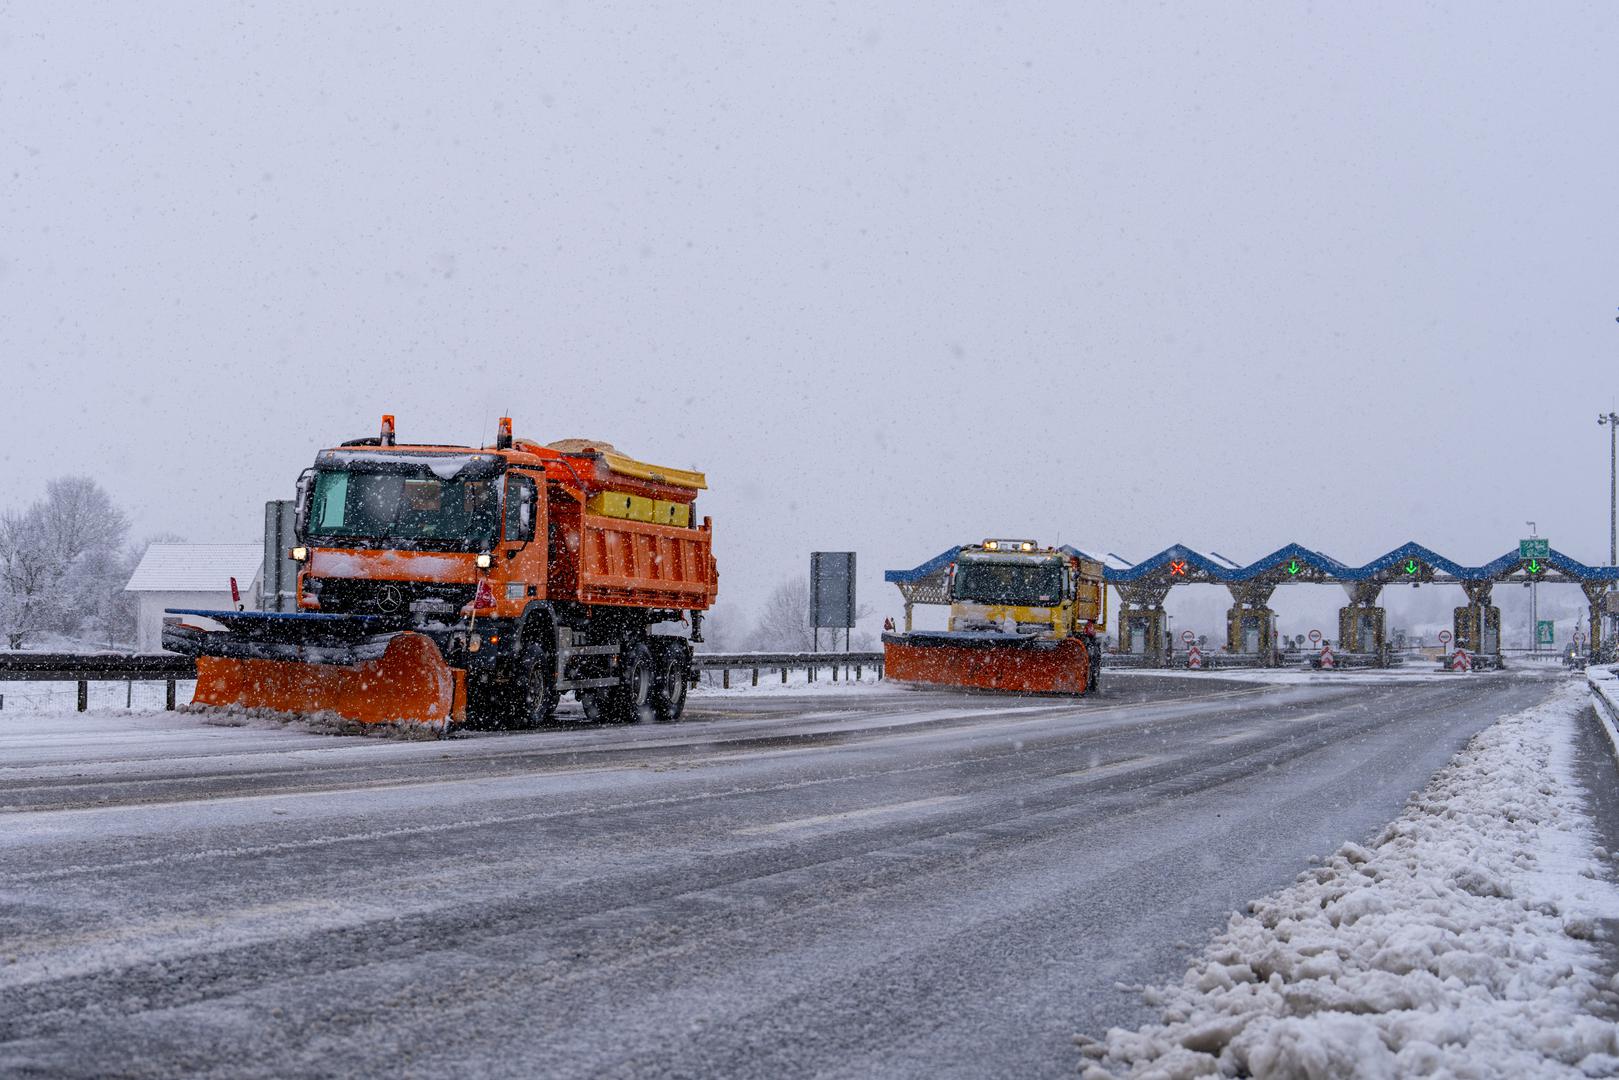
[{"label": "yellow snow plow truck with orange blade, nearer the toll booths", "polygon": [[1028,539],[962,547],[949,573],[945,630],[884,633],[884,674],[900,683],[1010,693],[1091,693],[1107,628],[1103,565]]}]

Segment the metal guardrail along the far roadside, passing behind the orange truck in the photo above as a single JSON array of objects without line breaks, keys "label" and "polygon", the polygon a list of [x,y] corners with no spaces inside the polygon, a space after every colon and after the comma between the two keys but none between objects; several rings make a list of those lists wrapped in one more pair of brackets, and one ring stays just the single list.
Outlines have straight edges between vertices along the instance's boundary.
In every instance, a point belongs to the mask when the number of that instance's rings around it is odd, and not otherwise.
[{"label": "metal guardrail along the far roadside, passing behind the orange truck", "polygon": [[[787,682],[788,670],[808,670],[810,682],[819,672],[832,672],[832,682],[853,675],[865,677],[868,667],[882,678],[882,653],[696,653],[691,657],[698,670],[720,672],[724,687],[730,687],[730,674],[753,674],[759,685],[759,672],[779,670]],[[79,685],[79,712],[89,708],[89,683],[92,682],[162,682],[165,683],[164,708],[175,708],[175,683],[198,677],[196,661],[173,653],[0,653],[0,682],[73,682]],[[0,695],[0,708],[5,698]]]}]

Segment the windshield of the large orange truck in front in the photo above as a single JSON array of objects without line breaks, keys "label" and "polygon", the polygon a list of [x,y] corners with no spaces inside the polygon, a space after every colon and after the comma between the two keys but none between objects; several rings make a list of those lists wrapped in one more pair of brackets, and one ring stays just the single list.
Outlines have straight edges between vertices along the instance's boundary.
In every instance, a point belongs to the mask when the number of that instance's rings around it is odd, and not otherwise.
[{"label": "windshield of the large orange truck in front", "polygon": [[311,539],[387,541],[395,547],[486,551],[500,526],[499,479],[319,470]]}]

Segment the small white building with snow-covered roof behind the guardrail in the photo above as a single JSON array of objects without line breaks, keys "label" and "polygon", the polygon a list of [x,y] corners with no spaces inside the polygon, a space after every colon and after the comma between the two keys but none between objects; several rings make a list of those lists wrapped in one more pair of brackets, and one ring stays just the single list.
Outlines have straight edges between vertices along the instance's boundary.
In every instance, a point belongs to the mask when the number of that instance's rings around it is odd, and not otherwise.
[{"label": "small white building with snow-covered roof behind the guardrail", "polygon": [[261,544],[151,544],[130,575],[130,583],[123,586],[125,593],[136,597],[136,651],[162,651],[167,607],[235,607],[230,597],[232,578],[236,580],[243,606],[257,609],[262,567]]}]

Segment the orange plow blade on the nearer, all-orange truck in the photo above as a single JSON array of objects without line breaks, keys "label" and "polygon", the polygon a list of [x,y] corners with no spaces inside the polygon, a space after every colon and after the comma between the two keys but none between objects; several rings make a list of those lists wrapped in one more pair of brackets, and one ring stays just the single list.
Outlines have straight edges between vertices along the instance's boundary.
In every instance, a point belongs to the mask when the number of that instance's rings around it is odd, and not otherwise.
[{"label": "orange plow blade on the nearer, all-orange truck", "polygon": [[400,633],[379,659],[353,665],[199,656],[191,701],[444,729],[466,721],[466,672],[429,638]]}]

